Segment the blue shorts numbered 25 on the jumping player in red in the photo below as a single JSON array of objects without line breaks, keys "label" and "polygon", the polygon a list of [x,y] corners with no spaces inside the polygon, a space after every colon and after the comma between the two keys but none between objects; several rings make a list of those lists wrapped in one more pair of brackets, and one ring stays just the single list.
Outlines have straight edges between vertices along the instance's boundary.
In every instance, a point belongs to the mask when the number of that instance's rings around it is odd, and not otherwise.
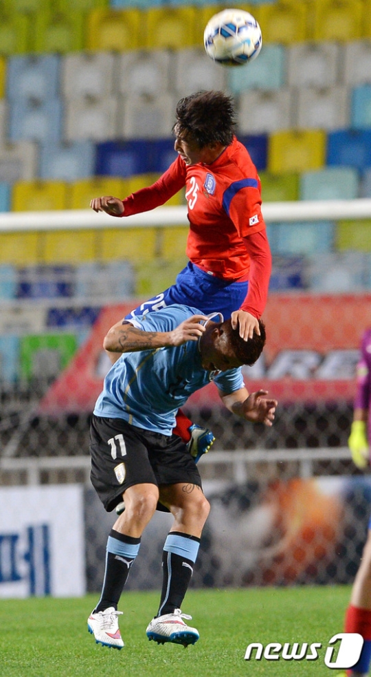
[{"label": "blue shorts numbered 25 on the jumping player in red", "polygon": [[188,266],[179,272],[175,284],[139,305],[126,315],[126,319],[180,303],[198,308],[205,315],[221,312],[227,320],[245,301],[247,286],[248,282],[231,282],[208,275],[189,262]]}]

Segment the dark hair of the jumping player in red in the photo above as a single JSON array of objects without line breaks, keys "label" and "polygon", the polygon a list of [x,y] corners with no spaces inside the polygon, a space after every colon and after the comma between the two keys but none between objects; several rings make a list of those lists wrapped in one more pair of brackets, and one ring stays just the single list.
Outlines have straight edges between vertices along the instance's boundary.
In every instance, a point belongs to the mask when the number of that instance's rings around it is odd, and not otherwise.
[{"label": "dark hair of the jumping player in red", "polygon": [[176,108],[172,131],[190,136],[200,148],[213,143],[229,146],[236,127],[231,96],[224,92],[195,92],[182,98]]}]

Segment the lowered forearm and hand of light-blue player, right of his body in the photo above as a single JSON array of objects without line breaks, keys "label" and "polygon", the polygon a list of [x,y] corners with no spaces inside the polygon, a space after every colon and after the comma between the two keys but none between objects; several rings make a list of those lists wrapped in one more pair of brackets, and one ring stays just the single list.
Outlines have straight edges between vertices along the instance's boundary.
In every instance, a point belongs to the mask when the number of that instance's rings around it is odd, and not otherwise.
[{"label": "lowered forearm and hand of light-blue player, right of his body", "polygon": [[249,394],[247,388],[243,387],[226,395],[219,390],[223,404],[236,416],[245,418],[251,423],[264,423],[271,426],[278,402],[264,397],[267,392],[267,390],[258,390],[256,393]]}]

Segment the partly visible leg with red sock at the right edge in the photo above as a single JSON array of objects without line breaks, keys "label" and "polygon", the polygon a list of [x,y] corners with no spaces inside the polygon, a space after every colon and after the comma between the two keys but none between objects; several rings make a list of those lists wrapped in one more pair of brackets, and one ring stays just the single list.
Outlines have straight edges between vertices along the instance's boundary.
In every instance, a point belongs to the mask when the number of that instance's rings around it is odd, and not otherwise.
[{"label": "partly visible leg with red sock at the right edge", "polygon": [[350,604],[346,611],[346,632],[358,632],[364,638],[357,665],[346,671],[347,676],[366,677],[371,663],[371,530],[363,548],[361,564],[352,587]]}]

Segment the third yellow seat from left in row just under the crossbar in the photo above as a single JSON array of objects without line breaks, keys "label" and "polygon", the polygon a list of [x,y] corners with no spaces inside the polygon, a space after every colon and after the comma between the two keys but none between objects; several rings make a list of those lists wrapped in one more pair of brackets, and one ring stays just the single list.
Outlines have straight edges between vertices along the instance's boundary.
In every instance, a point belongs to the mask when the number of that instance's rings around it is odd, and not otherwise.
[{"label": "third yellow seat from left in row just under the crossbar", "polygon": [[102,263],[150,261],[157,252],[157,228],[107,228],[102,230],[100,236]]}]

